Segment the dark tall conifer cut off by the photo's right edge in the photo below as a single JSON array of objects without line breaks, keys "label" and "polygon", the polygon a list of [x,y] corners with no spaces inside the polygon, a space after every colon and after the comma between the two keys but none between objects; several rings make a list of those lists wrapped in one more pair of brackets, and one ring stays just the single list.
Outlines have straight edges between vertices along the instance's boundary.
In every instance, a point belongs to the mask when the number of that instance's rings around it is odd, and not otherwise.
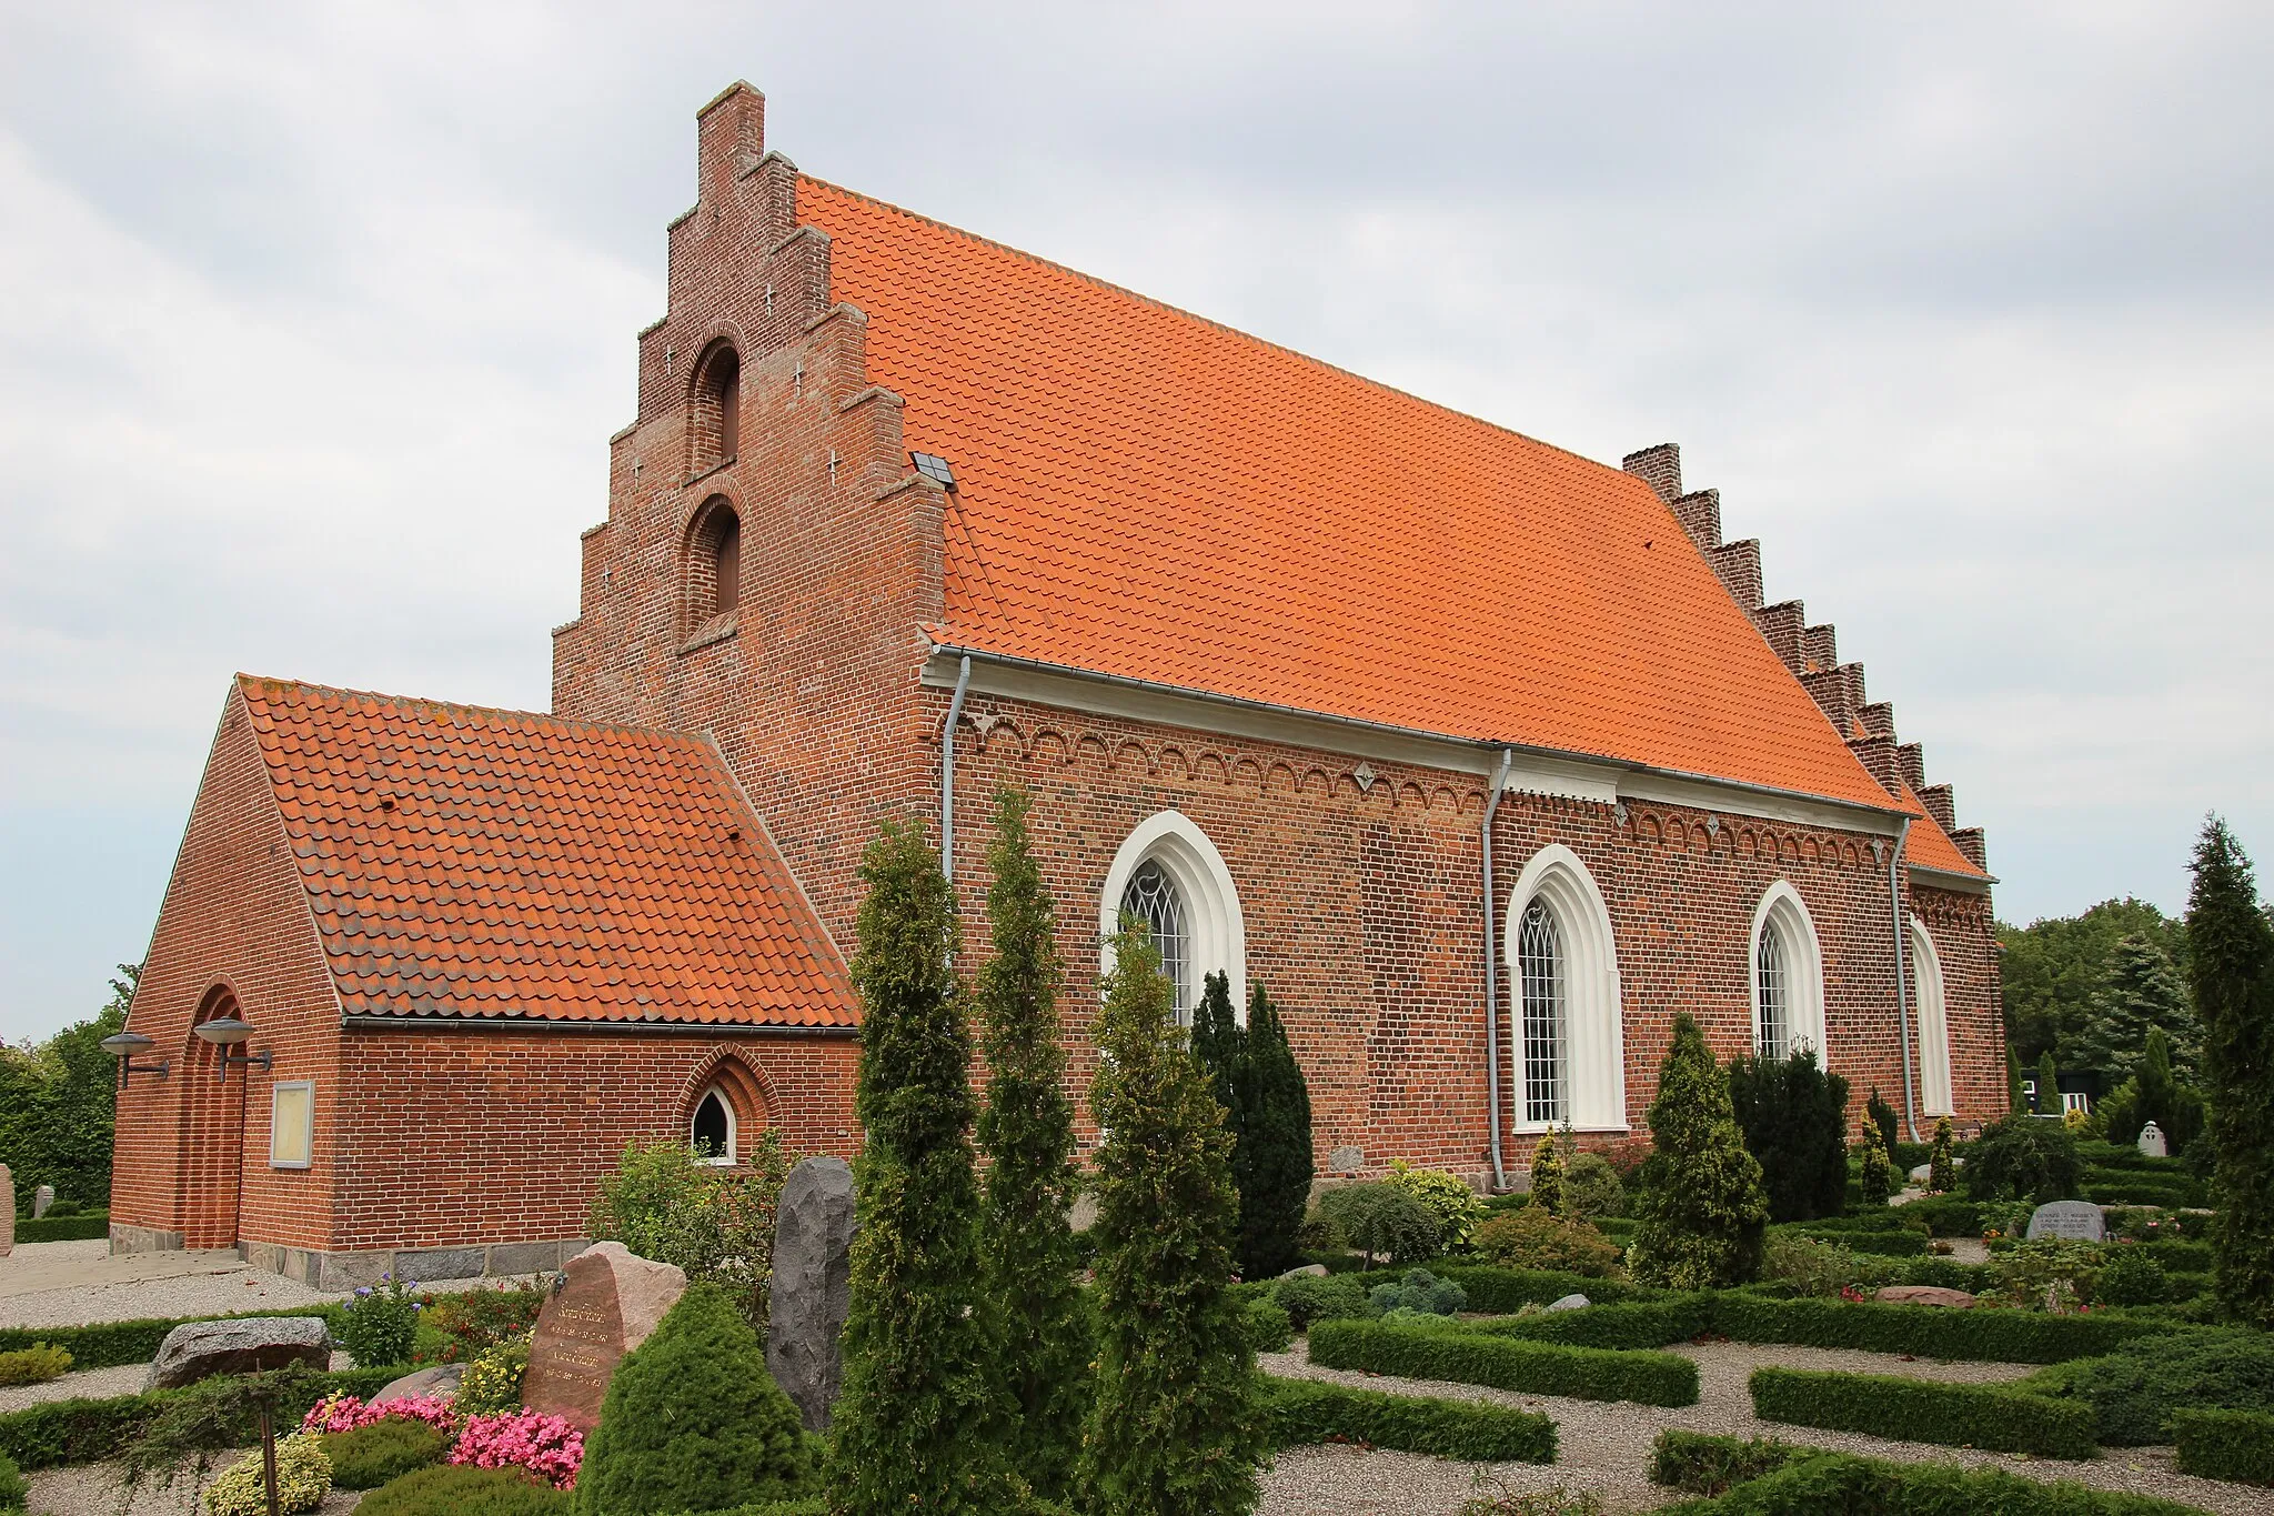
[{"label": "dark tall conifer cut off by the photo's right edge", "polygon": [[2194,848],[2188,964],[2210,1096],[2213,1289],[2229,1316],[2274,1327],[2274,925],[2217,816]]}]

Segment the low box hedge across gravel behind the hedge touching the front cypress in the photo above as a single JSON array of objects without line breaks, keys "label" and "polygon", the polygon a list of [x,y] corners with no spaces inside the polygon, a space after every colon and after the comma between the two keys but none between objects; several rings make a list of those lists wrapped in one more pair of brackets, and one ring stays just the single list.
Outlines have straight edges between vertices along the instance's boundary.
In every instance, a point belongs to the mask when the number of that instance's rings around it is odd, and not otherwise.
[{"label": "low box hedge across gravel behind the hedge touching the front cypress", "polygon": [[1526,1343],[1451,1323],[1410,1327],[1383,1321],[1319,1321],[1310,1327],[1310,1361],[1321,1368],[1489,1384],[1574,1400],[1696,1405],[1699,1398],[1699,1366],[1674,1352]]}]

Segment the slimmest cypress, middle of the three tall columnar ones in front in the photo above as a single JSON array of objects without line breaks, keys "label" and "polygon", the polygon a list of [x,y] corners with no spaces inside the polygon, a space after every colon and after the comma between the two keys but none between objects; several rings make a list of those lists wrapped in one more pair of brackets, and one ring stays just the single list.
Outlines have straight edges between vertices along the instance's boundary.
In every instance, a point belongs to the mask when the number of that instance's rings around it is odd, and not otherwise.
[{"label": "slimmest cypress, middle of the three tall columnar ones in front", "polygon": [[1067,1225],[1080,1175],[1067,1055],[1057,1043],[1057,923],[1026,816],[1021,791],[996,796],[996,834],[987,850],[994,955],[978,975],[989,1071],[987,1109],[978,1121],[989,1164],[980,1261],[1001,1416],[994,1441],[1035,1493],[1060,1500],[1073,1477],[1089,1402],[1089,1318]]}]

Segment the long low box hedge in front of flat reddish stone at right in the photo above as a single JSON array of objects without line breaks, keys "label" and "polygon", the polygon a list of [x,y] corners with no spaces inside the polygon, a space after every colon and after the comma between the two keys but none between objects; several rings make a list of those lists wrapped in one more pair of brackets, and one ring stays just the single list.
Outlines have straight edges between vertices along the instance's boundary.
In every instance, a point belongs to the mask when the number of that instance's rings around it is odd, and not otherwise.
[{"label": "long low box hedge in front of flat reddish stone at right", "polygon": [[1851,1300],[1771,1300],[1751,1291],[1726,1291],[1712,1298],[1712,1330],[1740,1343],[1860,1348],[1981,1364],[2065,1364],[2115,1352],[2135,1336],[2172,1332],[2174,1325],[2108,1314],[2047,1316],[1994,1307],[1947,1311]]}]

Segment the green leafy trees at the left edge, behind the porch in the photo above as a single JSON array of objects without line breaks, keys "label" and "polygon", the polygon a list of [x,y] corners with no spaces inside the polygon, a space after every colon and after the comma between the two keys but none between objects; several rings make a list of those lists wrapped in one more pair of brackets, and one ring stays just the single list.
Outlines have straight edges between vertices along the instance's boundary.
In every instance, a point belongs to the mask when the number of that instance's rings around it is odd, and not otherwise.
[{"label": "green leafy trees at the left edge, behind the porch", "polygon": [[109,1005],[86,1021],[32,1048],[0,1043],[0,1164],[16,1180],[25,1216],[41,1184],[82,1207],[111,1200],[118,1059],[102,1050],[102,1039],[127,1025],[141,964],[121,964],[118,975]]}]

